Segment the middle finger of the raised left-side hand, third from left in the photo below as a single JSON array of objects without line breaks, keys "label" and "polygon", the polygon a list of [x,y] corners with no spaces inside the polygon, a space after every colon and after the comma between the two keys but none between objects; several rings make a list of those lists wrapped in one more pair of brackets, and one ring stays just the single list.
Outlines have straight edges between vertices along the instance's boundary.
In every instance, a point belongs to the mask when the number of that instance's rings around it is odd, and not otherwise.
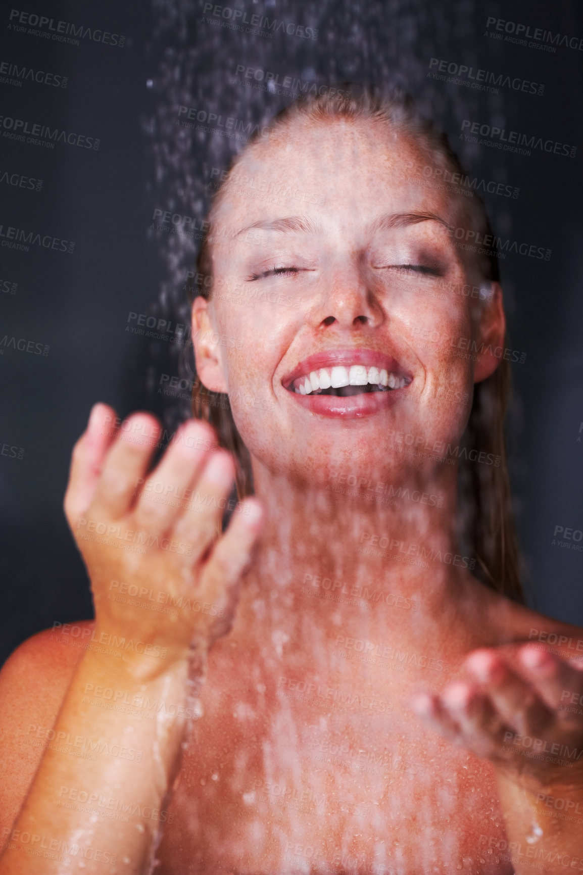
[{"label": "middle finger of the raised left-side hand, third from left", "polygon": [[216,437],[207,423],[190,419],[180,426],[144,482],[133,511],[137,528],[162,534],[172,526],[187,506],[189,487],[215,448]]}]

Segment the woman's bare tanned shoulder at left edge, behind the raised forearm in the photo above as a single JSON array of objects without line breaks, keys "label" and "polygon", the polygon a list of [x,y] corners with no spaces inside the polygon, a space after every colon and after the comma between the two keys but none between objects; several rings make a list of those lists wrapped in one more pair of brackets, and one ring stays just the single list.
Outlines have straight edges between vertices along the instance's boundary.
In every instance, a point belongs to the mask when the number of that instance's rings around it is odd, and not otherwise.
[{"label": "woman's bare tanned shoulder at left edge, behind the raised forearm", "polygon": [[[69,625],[80,640],[92,627],[91,620]],[[18,815],[43,752],[41,730],[53,726],[84,652],[73,641],[53,629],[39,632],[0,671],[0,835]]]}]

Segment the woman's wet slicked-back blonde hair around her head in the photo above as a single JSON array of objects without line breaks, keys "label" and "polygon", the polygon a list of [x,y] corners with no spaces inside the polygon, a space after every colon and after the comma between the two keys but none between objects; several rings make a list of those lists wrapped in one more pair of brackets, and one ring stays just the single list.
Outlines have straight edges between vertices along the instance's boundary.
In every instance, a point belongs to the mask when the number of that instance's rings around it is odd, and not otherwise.
[{"label": "woman's wet slicked-back blonde hair around her head", "polygon": [[[373,86],[344,84],[341,92],[301,98],[292,102],[262,130],[261,139],[282,132],[295,121],[326,123],[334,119],[378,121],[420,144],[429,153],[432,165],[460,174],[458,190],[470,227],[490,234],[488,216],[481,199],[464,184],[466,175],[445,134],[434,123],[419,115],[407,95],[388,94]],[[241,155],[260,139],[257,134],[233,161],[221,187],[214,194],[208,214],[208,233],[197,259],[198,285],[191,297],[212,295],[213,270],[211,243],[214,211],[225,191]],[[464,186],[466,185],[466,191]],[[476,253],[474,264],[484,281],[498,281],[495,249]],[[458,522],[460,539],[468,556],[474,556],[474,574],[495,591],[523,601],[519,550],[511,508],[509,471],[504,438],[504,417],[509,402],[509,361],[502,359],[494,374],[474,385],[472,409],[463,436],[464,458],[460,458]],[[236,488],[240,497],[253,493],[249,451],[235,426],[228,396],[209,391],[200,380],[193,383],[193,416],[207,420],[217,430],[220,443],[232,452],[237,462]],[[475,451],[472,453],[472,451]],[[479,452],[491,453],[499,464],[470,464]],[[486,457],[488,458],[488,457]]]}]

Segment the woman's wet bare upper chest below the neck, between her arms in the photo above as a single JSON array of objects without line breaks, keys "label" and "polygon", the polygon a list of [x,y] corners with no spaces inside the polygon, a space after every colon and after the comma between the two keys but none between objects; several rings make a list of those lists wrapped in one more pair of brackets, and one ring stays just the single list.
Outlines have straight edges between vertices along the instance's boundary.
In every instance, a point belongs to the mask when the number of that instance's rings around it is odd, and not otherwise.
[{"label": "woman's wet bare upper chest below the neck, between her arms", "polygon": [[512,872],[492,769],[425,731],[406,677],[224,678],[203,692],[160,875]]}]

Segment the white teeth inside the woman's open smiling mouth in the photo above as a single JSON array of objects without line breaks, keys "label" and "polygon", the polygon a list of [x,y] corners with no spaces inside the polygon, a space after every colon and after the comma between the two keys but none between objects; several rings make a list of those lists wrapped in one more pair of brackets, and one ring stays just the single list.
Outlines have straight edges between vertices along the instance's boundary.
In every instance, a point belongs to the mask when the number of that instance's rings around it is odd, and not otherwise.
[{"label": "white teeth inside the woman's open smiling mouth", "polygon": [[297,395],[336,395],[348,397],[374,392],[393,392],[411,383],[411,378],[386,368],[357,364],[320,367],[302,374],[287,386]]}]

